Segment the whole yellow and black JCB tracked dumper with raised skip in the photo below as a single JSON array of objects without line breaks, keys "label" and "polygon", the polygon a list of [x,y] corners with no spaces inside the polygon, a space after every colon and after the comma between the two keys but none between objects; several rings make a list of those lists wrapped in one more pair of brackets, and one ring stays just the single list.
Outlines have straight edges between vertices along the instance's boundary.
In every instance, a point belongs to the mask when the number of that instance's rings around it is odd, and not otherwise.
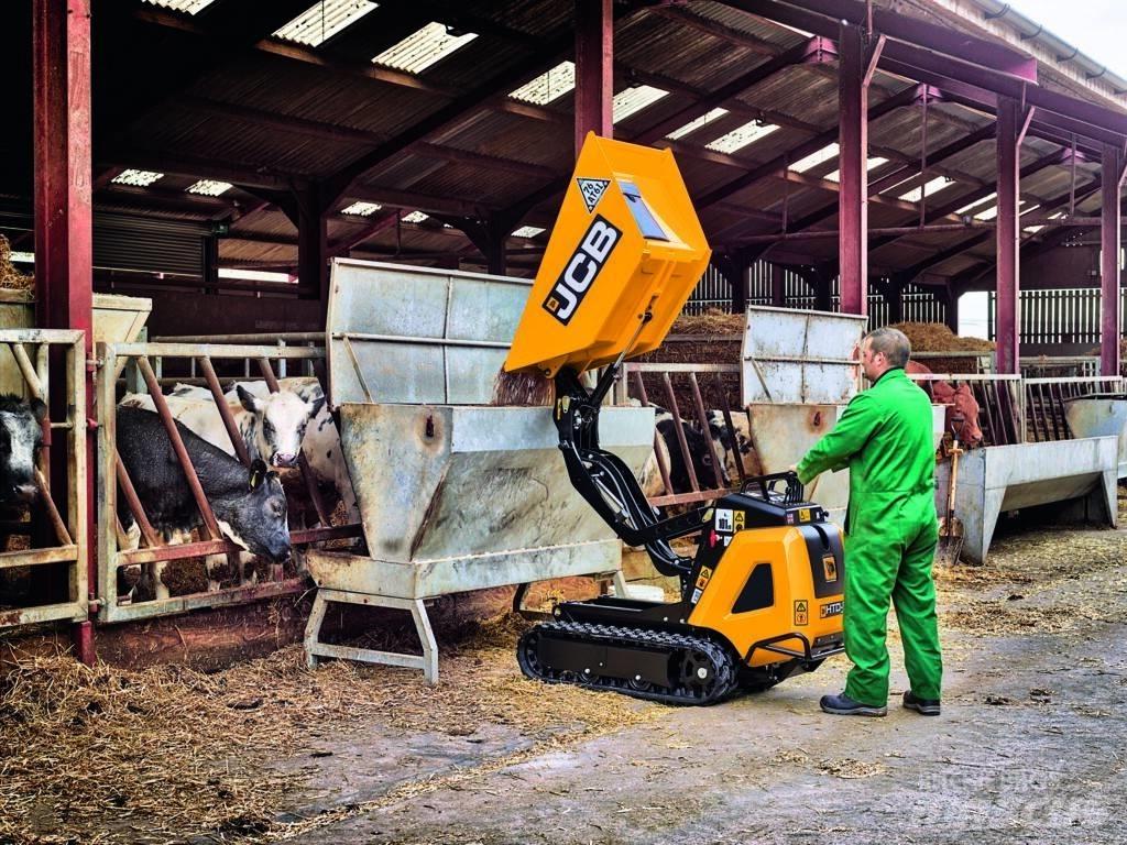
[{"label": "whole yellow and black JCB tracked dumper with raised skip", "polygon": [[[710,250],[668,150],[589,134],[529,296],[507,372],[556,381],[553,418],[576,490],[659,572],[677,602],[567,602],[517,647],[525,675],[676,704],[765,688],[842,651],[837,528],[792,473],[748,480],[663,519],[598,445],[622,362],[665,339]],[[604,367],[594,389],[580,375]],[[698,535],[695,557],[676,537]]]}]

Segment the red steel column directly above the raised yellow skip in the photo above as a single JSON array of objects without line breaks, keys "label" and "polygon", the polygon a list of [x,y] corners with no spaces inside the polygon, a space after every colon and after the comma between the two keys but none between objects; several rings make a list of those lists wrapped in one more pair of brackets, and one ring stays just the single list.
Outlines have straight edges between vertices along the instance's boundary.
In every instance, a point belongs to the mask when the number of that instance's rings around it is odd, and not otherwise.
[{"label": "red steel column directly above the raised yellow skip", "polygon": [[614,136],[614,17],[611,0],[575,2],[575,154],[588,132]]}]

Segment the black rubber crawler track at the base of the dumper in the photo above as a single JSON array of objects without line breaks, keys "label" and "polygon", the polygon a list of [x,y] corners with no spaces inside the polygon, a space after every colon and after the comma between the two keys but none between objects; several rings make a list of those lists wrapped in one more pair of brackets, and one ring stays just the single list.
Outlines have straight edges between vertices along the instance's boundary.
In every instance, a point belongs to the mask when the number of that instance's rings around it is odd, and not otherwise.
[{"label": "black rubber crawler track at the base of the dumper", "polygon": [[739,686],[731,649],[674,631],[544,622],[524,633],[516,655],[530,678],[664,704],[716,704]]}]

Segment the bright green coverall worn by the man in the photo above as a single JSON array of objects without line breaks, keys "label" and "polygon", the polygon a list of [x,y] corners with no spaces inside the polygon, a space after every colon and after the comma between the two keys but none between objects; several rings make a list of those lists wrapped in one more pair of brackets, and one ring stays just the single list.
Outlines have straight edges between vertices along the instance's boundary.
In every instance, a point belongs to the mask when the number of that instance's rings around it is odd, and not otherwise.
[{"label": "bright green coverall worn by the man", "polygon": [[850,471],[845,518],[845,695],[888,702],[888,604],[904,642],[917,699],[940,697],[943,674],[931,567],[939,540],[931,401],[900,368],[885,372],[845,408],[834,430],[799,462],[809,483],[826,470]]}]

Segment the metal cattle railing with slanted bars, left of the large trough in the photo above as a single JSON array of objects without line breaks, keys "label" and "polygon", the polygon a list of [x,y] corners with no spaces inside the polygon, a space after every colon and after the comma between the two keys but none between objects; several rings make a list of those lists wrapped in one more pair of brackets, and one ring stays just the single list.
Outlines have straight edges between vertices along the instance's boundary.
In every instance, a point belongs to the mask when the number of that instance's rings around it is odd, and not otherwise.
[{"label": "metal cattle railing with slanted bars, left of the large trough", "polygon": [[[211,505],[203,492],[168,402],[162,393],[161,382],[170,380],[161,380],[158,376],[161,364],[168,361],[179,361],[183,368],[184,362],[190,361],[198,367],[198,371],[203,373],[203,381],[207,384],[212,398],[215,400],[216,409],[228,436],[231,438],[237,457],[243,463],[249,463],[246,448],[238,433],[238,427],[223,397],[222,386],[215,373],[213,362],[236,361],[245,362],[245,364],[252,363],[259,370],[269,389],[276,391],[278,383],[274,373],[274,364],[283,361],[298,363],[320,361],[325,357],[323,348],[193,343],[101,344],[98,348],[99,357],[103,359],[98,384],[98,461],[100,479],[98,488],[98,515],[101,525],[113,526],[112,530],[104,531],[99,537],[99,595],[106,599],[101,605],[99,619],[105,622],[147,619],[179,613],[196,607],[214,607],[245,603],[305,589],[307,578],[303,573],[303,567],[299,569],[295,576],[286,577],[282,568],[275,566],[270,570],[270,578],[265,582],[254,585],[240,582],[233,587],[221,588],[219,592],[195,592],[183,596],[153,598],[152,601],[133,603],[126,602],[123,596],[118,595],[117,572],[124,567],[139,564],[153,566],[158,562],[183,560],[207,554],[236,555],[242,551],[234,543],[223,539],[220,533]],[[135,374],[126,375],[126,384],[143,384],[144,391],[152,398],[157,413],[161,418],[165,430],[176,453],[177,461],[184,472],[185,482],[192,491],[193,499],[203,521],[202,534],[204,539],[201,541],[174,545],[162,542],[149,522],[143,504],[140,501],[132,480],[117,455],[116,410],[118,391],[121,389],[117,376],[126,370],[135,371]],[[243,370],[247,372],[246,366]],[[113,374],[113,377],[110,377],[110,374]],[[326,512],[325,504],[320,499],[317,483],[303,456],[300,459],[300,466],[305,480],[305,488],[309,491],[310,499],[322,527],[291,532],[291,543],[295,561],[300,561],[301,550],[310,543],[341,537],[357,537],[362,534],[358,524],[340,526],[331,526],[329,524],[329,515]],[[123,496],[141,532],[142,545],[136,550],[130,551],[124,548],[126,545],[125,532],[117,519],[118,491]],[[240,568],[236,568],[236,571],[240,571]]]}]

